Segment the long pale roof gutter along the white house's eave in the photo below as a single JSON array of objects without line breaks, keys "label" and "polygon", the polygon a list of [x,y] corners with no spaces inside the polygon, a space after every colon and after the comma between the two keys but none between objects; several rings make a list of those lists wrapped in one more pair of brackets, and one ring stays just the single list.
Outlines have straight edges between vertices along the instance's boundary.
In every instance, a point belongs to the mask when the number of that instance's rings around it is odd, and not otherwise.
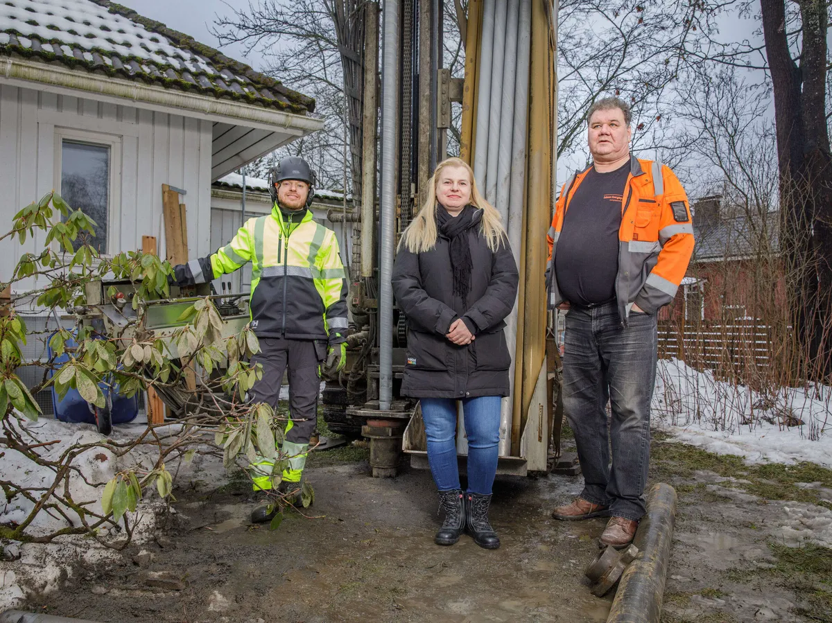
[{"label": "long pale roof gutter along the white house's eave", "polygon": [[191,113],[188,116],[196,116],[209,121],[245,121],[245,126],[261,127],[272,131],[276,127],[281,127],[289,133],[299,135],[320,130],[324,126],[323,120],[309,116],[253,106],[239,101],[215,99],[187,91],[152,87],[139,82],[73,71],[42,62],[6,57],[2,65],[2,72],[0,72],[2,77],[8,80],[48,85],[52,87],[47,89],[50,91],[63,89],[85,91],[95,94],[98,100],[111,98],[114,103],[124,104],[125,100],[129,100],[138,107],[176,108]]}]

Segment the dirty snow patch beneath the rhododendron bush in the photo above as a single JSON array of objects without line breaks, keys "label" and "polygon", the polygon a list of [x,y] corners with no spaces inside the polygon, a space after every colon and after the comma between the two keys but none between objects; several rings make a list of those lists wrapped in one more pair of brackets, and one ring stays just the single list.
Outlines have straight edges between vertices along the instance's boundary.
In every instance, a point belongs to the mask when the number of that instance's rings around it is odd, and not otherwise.
[{"label": "dirty snow patch beneath the rhododendron bush", "polygon": [[[24,436],[32,438],[32,443],[56,442],[40,448],[43,457],[52,459],[57,459],[70,447],[81,447],[104,439],[92,425],[62,423],[49,418],[41,418],[35,423],[21,420],[16,426]],[[110,438],[116,443],[126,443],[145,430],[146,424],[143,423],[116,426]],[[178,430],[178,426],[171,425],[156,428],[156,433],[164,437]],[[101,512],[101,496],[107,481],[127,468],[150,470],[157,457],[158,449],[152,446],[136,447],[123,457],[116,457],[102,447],[84,450],[75,462],[83,478],[76,476],[70,479],[72,499],[77,503],[89,502],[91,509]],[[190,463],[177,461],[166,465],[166,468],[174,473],[176,482],[201,481],[208,487],[215,487],[225,481],[221,458],[203,452],[197,453]],[[4,479],[41,491],[45,491],[53,482],[52,470],[9,449],[5,449],[0,456],[0,473]],[[36,497],[40,495],[37,491],[32,493]],[[0,523],[22,522],[32,507],[33,502],[22,496],[7,500],[5,494],[0,492]],[[175,513],[172,509],[171,512]],[[67,514],[72,517],[75,525],[79,525],[75,513],[68,512],[67,509]],[[128,512],[127,515],[134,529],[132,543],[139,545],[153,537],[159,519],[166,515],[166,504],[155,491],[146,491],[136,512]],[[30,525],[29,532],[33,535],[46,535],[67,525],[67,521],[57,513],[50,516],[42,512]],[[121,532],[115,528],[102,528],[99,536],[106,540],[117,540]],[[4,558],[17,559],[0,561],[0,611],[17,606],[27,592],[48,594],[56,591],[79,561],[90,564],[121,556],[119,551],[102,545],[96,538],[80,535],[59,536],[47,544],[0,542],[0,546],[4,550]]]}]

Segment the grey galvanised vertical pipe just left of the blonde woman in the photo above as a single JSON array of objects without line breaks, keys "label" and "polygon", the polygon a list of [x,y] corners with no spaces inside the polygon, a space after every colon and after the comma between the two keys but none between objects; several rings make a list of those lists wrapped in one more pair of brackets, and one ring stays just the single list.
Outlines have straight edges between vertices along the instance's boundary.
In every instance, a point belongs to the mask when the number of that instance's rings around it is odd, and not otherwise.
[{"label": "grey galvanised vertical pipe just left of the blonde woman", "polygon": [[399,2],[384,0],[381,101],[381,254],[379,257],[379,409],[393,401],[393,275],[396,236],[396,119],[399,111]]}]

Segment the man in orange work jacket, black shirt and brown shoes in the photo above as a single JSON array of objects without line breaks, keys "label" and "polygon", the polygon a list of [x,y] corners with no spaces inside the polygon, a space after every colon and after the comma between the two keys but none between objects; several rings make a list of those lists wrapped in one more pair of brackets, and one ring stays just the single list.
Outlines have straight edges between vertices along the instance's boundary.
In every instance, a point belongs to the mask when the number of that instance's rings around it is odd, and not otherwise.
[{"label": "man in orange work jacket, black shirt and brown shoes", "polygon": [[567,310],[563,408],[584,476],[552,517],[610,517],[601,542],[619,548],[645,512],[656,314],[685,276],[693,225],[673,171],[630,155],[626,102],[599,100],[587,120],[593,164],[563,185],[547,235],[549,307]]}]

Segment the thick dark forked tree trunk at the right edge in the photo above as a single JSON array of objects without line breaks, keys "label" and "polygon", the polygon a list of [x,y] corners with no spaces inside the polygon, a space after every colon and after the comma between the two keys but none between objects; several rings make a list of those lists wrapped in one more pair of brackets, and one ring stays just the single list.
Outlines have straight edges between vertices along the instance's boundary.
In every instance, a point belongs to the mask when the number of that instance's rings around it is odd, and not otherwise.
[{"label": "thick dark forked tree trunk at the right edge", "polygon": [[791,322],[805,377],[825,377],[832,367],[832,169],[826,126],[825,2],[800,0],[803,49],[800,67],[786,38],[784,0],[760,0],[765,52],[775,97],[780,168],[780,250]]}]

